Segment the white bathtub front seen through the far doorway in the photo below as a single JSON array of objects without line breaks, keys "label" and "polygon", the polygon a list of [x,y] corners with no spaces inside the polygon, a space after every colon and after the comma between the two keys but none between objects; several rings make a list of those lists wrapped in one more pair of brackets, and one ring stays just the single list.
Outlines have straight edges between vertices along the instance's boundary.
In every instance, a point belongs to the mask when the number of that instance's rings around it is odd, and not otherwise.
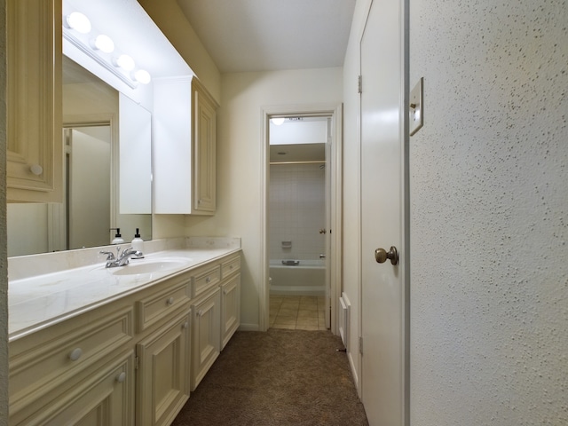
[{"label": "white bathtub front seen through the far doorway", "polygon": [[270,294],[325,296],[326,265],[323,260],[300,260],[297,265],[270,261]]}]

